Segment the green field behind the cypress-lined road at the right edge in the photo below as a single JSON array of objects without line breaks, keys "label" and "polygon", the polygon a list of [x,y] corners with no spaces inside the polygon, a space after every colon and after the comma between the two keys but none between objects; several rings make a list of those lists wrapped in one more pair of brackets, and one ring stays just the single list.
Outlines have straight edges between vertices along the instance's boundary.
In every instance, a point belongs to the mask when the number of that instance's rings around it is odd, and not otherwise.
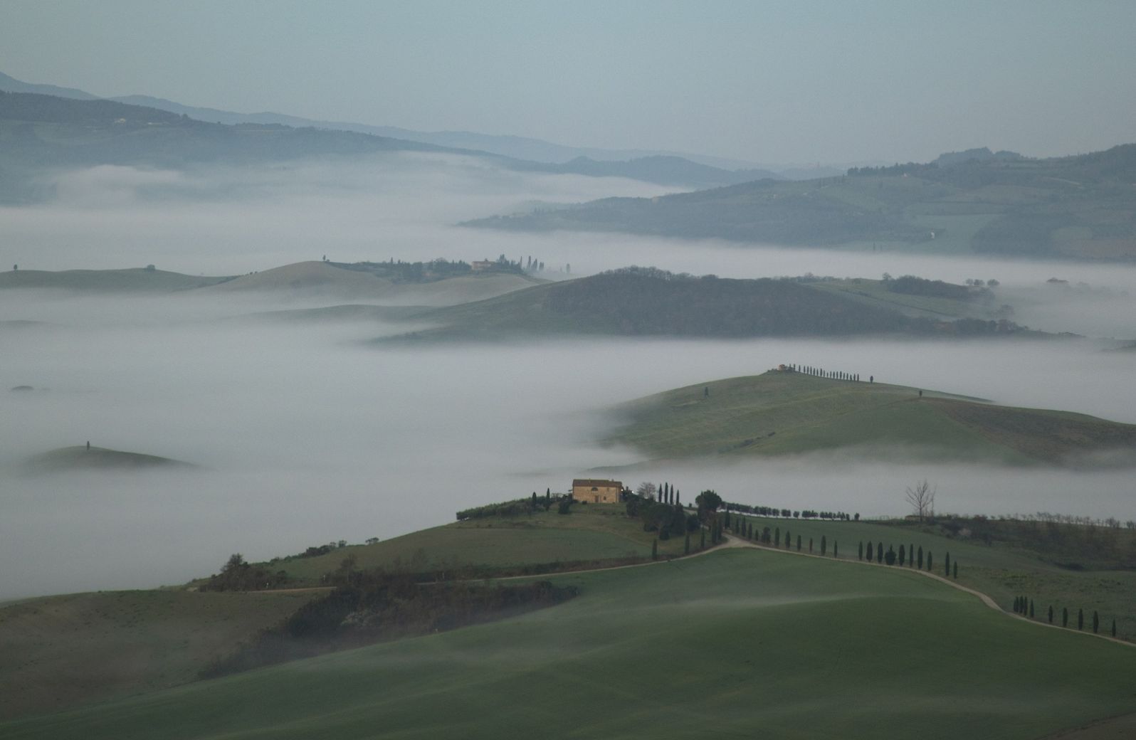
[{"label": "green field behind the cypress-lined road at the right edge", "polygon": [[[1038,621],[1045,620],[1045,611],[1053,605],[1055,621],[1060,622],[1062,607],[1070,611],[1070,624],[1076,623],[1077,609],[1085,609],[1086,625],[1093,609],[1101,614],[1101,631],[1106,631],[1111,620],[1117,620],[1118,637],[1136,640],[1136,572],[1122,570],[1075,571],[1046,562],[1039,554],[1004,544],[984,545],[966,541],[941,533],[925,531],[917,523],[907,525],[879,524],[871,522],[828,522],[747,516],[754,530],[769,527],[770,531],[786,529],[793,537],[803,539],[808,549],[809,538],[819,552],[820,538],[827,537],[829,552],[834,543],[840,546],[842,558],[855,558],[857,546],[861,541],[884,543],[899,552],[900,545],[922,547],[934,554],[935,572],[942,574],[946,553],[959,563],[959,582],[991,596],[1006,612],[1013,609],[1013,598],[1025,595],[1034,599]],[[1120,531],[1124,547],[1136,548],[1136,532]],[[1042,554],[1043,555],[1043,554]],[[1086,628],[1087,629],[1087,628]]]}]

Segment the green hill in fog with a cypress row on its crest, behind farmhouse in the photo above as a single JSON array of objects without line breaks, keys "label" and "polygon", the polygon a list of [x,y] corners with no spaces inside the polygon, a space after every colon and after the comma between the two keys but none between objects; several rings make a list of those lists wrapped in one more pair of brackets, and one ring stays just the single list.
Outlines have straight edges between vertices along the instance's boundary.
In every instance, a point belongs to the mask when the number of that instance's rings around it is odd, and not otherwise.
[{"label": "green hill in fog with a cypress row on its crest, behind farmhouse", "polygon": [[653,457],[858,448],[866,455],[1075,464],[1094,453],[1136,452],[1133,424],[776,370],[667,390],[617,411],[623,423],[605,443]]}]

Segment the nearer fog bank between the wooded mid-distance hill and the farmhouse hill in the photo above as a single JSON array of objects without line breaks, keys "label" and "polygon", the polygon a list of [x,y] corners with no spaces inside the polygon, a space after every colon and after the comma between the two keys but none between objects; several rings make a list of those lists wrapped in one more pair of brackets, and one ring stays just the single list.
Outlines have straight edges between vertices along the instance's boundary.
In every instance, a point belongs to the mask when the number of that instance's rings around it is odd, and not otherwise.
[{"label": "nearer fog bank between the wooded mid-distance hill and the farmhouse hill", "polygon": [[[592,468],[641,460],[594,444],[610,428],[612,404],[778,362],[1136,422],[1129,358],[1076,342],[396,348],[364,343],[396,325],[123,318],[3,333],[0,597],[178,582],[216,571],[235,552],[267,558],[387,538],[451,521],[465,506],[565,490]],[[7,390],[16,385],[35,390]],[[14,470],[24,455],[87,440],[204,470],[36,478]],[[671,480],[690,496],[715,488],[729,501],[863,515],[904,513],[903,488],[928,478],[942,510],[1133,516],[1120,472],[843,456],[663,465],[626,478]]]}]

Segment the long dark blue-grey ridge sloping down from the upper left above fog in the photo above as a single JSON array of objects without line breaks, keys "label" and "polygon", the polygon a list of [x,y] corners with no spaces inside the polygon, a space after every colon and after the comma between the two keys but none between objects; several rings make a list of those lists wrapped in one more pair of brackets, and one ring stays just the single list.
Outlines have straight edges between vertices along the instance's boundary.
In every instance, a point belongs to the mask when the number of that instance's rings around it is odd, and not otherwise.
[{"label": "long dark blue-grey ridge sloping down from the upper left above fog", "polygon": [[42,168],[132,165],[177,168],[225,161],[251,163],[307,157],[358,157],[375,152],[436,152],[478,157],[526,173],[626,177],[682,190],[776,177],[763,170],[730,171],[677,157],[563,165],[532,162],[483,151],[437,146],[375,134],[285,124],[222,124],[157,108],[105,99],[80,100],[0,91],[0,200],[34,201]]}]

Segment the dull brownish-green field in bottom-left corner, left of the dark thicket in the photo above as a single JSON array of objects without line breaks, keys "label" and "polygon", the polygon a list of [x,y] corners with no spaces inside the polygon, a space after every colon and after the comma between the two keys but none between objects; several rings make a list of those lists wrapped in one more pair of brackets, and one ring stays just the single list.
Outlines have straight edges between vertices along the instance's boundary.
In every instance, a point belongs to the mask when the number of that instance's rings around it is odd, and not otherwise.
[{"label": "dull brownish-green field in bottom-left corner, left of the dark thicket", "polygon": [[0,607],[0,718],[186,683],[310,594],[106,591]]}]

